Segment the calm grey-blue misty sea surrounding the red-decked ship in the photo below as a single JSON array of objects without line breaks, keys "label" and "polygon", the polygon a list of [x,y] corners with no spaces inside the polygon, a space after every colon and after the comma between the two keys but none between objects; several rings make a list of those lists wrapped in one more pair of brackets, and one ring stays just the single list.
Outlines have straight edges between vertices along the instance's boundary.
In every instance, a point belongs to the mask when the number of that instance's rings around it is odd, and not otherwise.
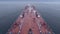
[{"label": "calm grey-blue misty sea surrounding the red-decked ship", "polygon": [[0,34],[8,31],[27,4],[34,5],[53,32],[60,34],[59,2],[0,2]]}]

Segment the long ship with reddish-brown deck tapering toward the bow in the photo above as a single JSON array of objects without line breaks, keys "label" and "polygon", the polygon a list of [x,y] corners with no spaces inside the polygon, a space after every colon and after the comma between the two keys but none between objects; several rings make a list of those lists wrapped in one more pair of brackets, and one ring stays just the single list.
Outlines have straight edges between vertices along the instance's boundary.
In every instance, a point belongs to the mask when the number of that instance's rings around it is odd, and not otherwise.
[{"label": "long ship with reddish-brown deck tapering toward the bow", "polygon": [[26,5],[7,34],[55,34],[33,5]]}]

